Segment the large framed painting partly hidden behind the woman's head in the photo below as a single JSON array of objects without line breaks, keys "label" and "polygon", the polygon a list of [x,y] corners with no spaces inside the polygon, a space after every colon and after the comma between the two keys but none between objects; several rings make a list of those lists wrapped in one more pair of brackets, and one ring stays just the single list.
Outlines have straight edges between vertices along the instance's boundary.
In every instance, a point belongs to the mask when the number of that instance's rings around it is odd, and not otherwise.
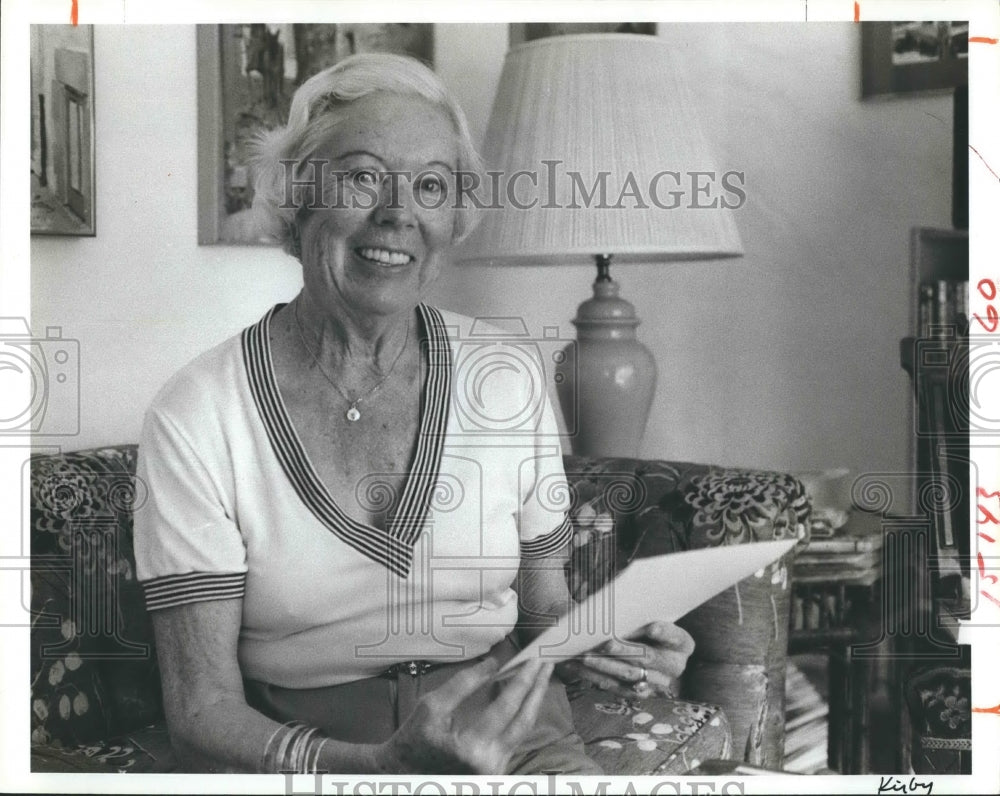
[{"label": "large framed painting partly hidden behind the woman's head", "polygon": [[283,125],[305,80],[360,52],[434,62],[425,23],[198,26],[198,243],[271,243],[255,224],[246,142]]}]

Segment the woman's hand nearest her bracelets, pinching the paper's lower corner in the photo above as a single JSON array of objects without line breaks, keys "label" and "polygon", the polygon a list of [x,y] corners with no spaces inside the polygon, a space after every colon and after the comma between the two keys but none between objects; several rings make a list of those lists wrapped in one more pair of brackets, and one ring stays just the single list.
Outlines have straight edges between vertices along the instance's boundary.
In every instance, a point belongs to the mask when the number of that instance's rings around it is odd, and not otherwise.
[{"label": "woman's hand nearest her bracelets, pinching the paper's lower corner", "polygon": [[422,697],[393,736],[376,748],[380,772],[502,774],[535,725],[552,664],[523,664],[484,710],[459,711],[467,697],[492,680],[497,668],[496,661],[486,660]]}]

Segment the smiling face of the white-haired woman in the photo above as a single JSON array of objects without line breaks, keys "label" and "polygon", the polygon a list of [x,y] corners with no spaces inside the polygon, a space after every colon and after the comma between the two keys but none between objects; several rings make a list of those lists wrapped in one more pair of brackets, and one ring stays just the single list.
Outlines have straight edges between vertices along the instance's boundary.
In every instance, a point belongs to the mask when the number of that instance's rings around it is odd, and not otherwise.
[{"label": "smiling face of the white-haired woman", "polygon": [[322,168],[324,196],[299,217],[310,299],[362,318],[411,310],[451,249],[451,119],[420,97],[373,94],[351,104],[311,159],[320,163],[301,178]]}]

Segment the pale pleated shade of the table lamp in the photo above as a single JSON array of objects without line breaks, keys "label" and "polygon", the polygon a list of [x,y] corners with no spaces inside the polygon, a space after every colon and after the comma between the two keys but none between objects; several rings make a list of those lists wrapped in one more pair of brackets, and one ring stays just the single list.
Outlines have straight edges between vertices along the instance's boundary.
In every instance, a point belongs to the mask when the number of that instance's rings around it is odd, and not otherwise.
[{"label": "pale pleated shade of the table lamp", "polygon": [[[511,49],[483,145],[487,169],[500,173],[501,207],[480,211],[456,260],[585,263],[608,253],[621,263],[742,254],[732,211],[721,206],[739,196],[724,190],[692,118],[680,60],[659,37],[634,34],[555,36]],[[519,172],[536,175],[536,184],[514,177]],[[713,200],[714,208],[691,206]]]}]

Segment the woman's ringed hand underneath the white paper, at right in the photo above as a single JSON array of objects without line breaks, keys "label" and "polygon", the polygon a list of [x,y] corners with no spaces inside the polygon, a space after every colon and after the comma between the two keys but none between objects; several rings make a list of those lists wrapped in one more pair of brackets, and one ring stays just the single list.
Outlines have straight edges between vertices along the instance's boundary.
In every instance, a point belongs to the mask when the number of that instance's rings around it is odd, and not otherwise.
[{"label": "woman's ringed hand underneath the white paper, at right", "polygon": [[566,682],[586,680],[598,688],[677,695],[677,680],[694,650],[694,640],[672,622],[650,622],[627,642],[609,641],[582,658],[559,666]]}]

